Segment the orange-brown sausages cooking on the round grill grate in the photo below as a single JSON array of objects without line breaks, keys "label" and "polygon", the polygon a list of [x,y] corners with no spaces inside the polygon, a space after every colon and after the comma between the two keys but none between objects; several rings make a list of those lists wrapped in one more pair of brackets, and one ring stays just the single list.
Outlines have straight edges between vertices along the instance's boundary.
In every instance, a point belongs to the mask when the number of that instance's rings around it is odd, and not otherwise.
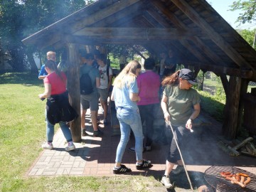
[{"label": "orange-brown sausages cooking on the round grill grate", "polygon": [[237,184],[242,188],[245,188],[248,183],[250,183],[251,178],[247,174],[237,173],[231,174],[230,172],[221,171],[220,176],[224,177],[226,180],[231,181],[233,184]]}]

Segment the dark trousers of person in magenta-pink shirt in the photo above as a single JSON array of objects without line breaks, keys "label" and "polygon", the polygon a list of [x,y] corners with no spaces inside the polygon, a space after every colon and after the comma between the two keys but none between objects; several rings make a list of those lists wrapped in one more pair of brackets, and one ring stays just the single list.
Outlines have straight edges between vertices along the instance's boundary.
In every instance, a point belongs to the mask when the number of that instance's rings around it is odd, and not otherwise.
[{"label": "dark trousers of person in magenta-pink shirt", "polygon": [[146,129],[144,129],[144,138],[146,139],[145,146],[151,146],[153,142],[154,135],[154,117],[156,115],[156,110],[159,107],[159,103],[151,104],[151,105],[138,105],[139,114],[141,115],[142,125],[145,122]]}]

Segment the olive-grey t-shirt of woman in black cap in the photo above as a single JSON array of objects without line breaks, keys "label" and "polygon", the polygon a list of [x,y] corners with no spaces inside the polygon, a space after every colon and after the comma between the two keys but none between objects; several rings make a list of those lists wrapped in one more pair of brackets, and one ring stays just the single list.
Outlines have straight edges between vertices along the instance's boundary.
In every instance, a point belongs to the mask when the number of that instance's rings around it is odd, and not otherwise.
[{"label": "olive-grey t-shirt of woman in black cap", "polygon": [[178,85],[166,86],[164,95],[168,98],[167,109],[170,114],[171,124],[186,124],[193,113],[193,105],[201,102],[201,98],[196,90],[181,90]]}]

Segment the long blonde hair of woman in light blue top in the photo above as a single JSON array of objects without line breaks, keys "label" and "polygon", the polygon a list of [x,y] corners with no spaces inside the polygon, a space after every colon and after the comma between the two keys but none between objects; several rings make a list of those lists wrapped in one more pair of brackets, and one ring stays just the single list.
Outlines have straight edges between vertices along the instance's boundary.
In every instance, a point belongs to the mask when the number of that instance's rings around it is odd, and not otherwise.
[{"label": "long blonde hair of woman in light blue top", "polygon": [[119,75],[117,75],[117,78],[114,79],[114,85],[117,86],[117,88],[122,89],[127,83],[127,86],[129,87],[131,82],[134,82],[137,78],[136,70],[141,68],[142,65],[139,64],[139,61],[130,61],[119,73]]}]

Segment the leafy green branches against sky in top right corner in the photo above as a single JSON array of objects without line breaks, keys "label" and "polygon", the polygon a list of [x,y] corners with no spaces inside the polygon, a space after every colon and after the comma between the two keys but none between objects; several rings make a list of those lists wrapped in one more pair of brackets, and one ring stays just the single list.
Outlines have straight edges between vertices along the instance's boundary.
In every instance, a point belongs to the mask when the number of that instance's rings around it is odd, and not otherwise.
[{"label": "leafy green branches against sky in top right corner", "polygon": [[247,0],[247,1],[234,1],[230,6],[232,9],[230,11],[241,10],[243,11],[236,22],[238,23],[252,23],[252,21],[256,20],[256,1],[255,0]]}]

